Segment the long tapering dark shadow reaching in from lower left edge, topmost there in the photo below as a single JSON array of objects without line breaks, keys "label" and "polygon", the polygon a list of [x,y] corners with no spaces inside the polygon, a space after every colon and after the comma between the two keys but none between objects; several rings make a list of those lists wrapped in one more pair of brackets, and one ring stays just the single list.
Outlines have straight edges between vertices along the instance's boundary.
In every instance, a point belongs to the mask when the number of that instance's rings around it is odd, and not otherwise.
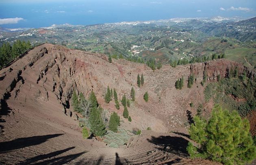
[{"label": "long tapering dark shadow reaching in from lower left edge, topmost there", "polygon": [[14,139],[12,141],[0,142],[0,153],[9,152],[11,150],[16,150],[28,146],[34,146],[46,142],[48,139],[63,135],[61,134],[52,134],[52,135],[42,135],[42,136],[33,136],[33,137],[23,137]]}]

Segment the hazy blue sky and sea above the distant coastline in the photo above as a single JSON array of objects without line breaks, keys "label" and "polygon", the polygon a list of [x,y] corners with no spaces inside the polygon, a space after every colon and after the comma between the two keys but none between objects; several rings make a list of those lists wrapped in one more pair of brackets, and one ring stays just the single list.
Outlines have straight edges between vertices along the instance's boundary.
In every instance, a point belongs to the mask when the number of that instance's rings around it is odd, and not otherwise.
[{"label": "hazy blue sky and sea above the distant coastline", "polygon": [[256,0],[0,0],[3,28],[217,16],[255,17]]}]

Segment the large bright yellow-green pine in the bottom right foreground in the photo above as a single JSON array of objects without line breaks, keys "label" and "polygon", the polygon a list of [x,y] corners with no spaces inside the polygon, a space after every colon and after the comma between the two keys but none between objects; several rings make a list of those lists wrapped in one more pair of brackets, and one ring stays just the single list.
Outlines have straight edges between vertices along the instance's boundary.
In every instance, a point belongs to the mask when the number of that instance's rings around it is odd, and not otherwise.
[{"label": "large bright yellow-green pine in the bottom right foreground", "polygon": [[250,163],[256,158],[249,122],[241,119],[236,111],[222,110],[215,105],[208,122],[199,116],[193,120],[189,134],[199,145],[195,147],[189,142],[187,151],[192,159],[201,157],[231,165]]}]

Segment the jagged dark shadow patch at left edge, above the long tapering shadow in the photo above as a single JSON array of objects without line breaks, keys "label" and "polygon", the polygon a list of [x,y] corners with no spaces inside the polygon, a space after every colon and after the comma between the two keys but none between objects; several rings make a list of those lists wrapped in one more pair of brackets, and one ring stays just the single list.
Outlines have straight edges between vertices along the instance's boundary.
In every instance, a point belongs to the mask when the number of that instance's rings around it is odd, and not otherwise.
[{"label": "jagged dark shadow patch at left edge, above the long tapering shadow", "polygon": [[[10,96],[11,96],[11,94],[8,92],[8,93],[4,94],[4,98],[1,99],[1,101],[0,101],[0,108],[1,108],[0,109],[0,123],[6,122],[4,119],[2,119],[2,116],[7,116],[11,112],[11,108],[8,107],[8,104],[6,102],[6,100],[8,100],[10,98]],[[2,126],[1,124],[0,124],[0,129],[1,129],[0,133],[4,132],[4,130],[3,130],[4,126]]]}]

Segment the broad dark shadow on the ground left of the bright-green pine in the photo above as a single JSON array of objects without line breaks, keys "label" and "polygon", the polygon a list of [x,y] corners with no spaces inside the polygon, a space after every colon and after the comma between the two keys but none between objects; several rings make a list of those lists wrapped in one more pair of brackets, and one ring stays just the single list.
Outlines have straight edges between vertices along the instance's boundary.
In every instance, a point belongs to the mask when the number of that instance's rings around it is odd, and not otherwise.
[{"label": "broad dark shadow on the ground left of the bright-green pine", "polygon": [[155,148],[165,152],[177,154],[178,156],[188,156],[187,146],[189,141],[176,136],[160,136],[147,139],[150,143],[156,145]]}]

